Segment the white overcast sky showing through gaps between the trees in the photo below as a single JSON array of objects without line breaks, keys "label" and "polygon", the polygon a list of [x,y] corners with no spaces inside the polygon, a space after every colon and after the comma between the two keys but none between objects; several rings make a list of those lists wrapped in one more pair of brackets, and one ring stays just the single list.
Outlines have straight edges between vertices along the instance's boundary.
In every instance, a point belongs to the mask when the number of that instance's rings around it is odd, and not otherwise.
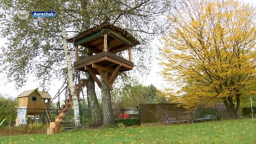
[{"label": "white overcast sky showing through gaps between the trees", "polygon": [[[254,5],[256,4],[256,0],[242,0],[244,2],[249,2],[249,3],[253,3]],[[4,45],[4,43],[6,42],[5,39],[0,38],[0,46]],[[150,42],[151,43],[151,42]],[[157,43],[155,43],[154,45],[158,45]],[[153,57],[153,63],[151,65],[151,67],[153,68],[150,75],[148,75],[148,77],[146,79],[143,79],[143,84],[144,85],[149,85],[149,84],[153,84],[155,85],[158,89],[162,89],[162,84],[164,84],[164,81],[162,79],[162,77],[157,74],[157,72],[160,72],[160,68],[158,66],[158,60],[156,59],[158,56],[158,53],[156,54],[156,57]],[[137,76],[138,78],[140,78],[139,76]],[[0,74],[0,93],[1,94],[8,94],[9,96],[13,96],[13,97],[17,97],[18,94],[24,92],[25,90],[30,90],[30,89],[35,89],[37,87],[40,87],[38,85],[38,82],[34,82],[34,80],[36,80],[35,77],[29,77],[28,82],[25,84],[25,86],[23,86],[20,90],[16,90],[14,87],[14,83],[8,83],[8,84],[4,84],[6,82],[6,80],[4,79],[4,75]],[[62,85],[62,82],[59,82],[58,80],[52,81],[52,85],[50,86],[50,90],[48,91],[49,94],[52,96],[52,98],[55,96],[55,94],[58,92],[58,89],[60,88],[60,86]],[[96,87],[96,92],[98,93],[97,96],[100,97],[100,88],[98,87],[97,84],[95,84]],[[40,88],[39,88],[40,91]],[[64,100],[65,96],[64,94],[60,95],[60,100]],[[53,100],[54,102],[56,102],[58,99]]]}]

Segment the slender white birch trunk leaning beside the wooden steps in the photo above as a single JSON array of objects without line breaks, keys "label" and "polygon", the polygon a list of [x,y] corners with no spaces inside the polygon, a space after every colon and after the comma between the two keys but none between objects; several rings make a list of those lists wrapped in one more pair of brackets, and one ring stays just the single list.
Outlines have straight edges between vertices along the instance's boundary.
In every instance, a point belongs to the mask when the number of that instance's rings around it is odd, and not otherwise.
[{"label": "slender white birch trunk leaning beside the wooden steps", "polygon": [[[59,0],[59,4],[61,5],[61,0]],[[62,7],[60,7],[61,12],[60,12],[60,24],[61,24],[61,35],[62,35],[62,40],[63,40],[63,49],[64,53],[67,59],[67,65],[68,65],[68,85],[69,89],[71,92],[71,96],[73,99],[73,109],[74,109],[74,119],[75,119],[75,127],[80,128],[81,123],[80,123],[80,114],[79,114],[79,103],[77,100],[75,88],[74,88],[74,83],[73,83],[73,68],[72,68],[72,62],[70,58],[70,53],[68,51],[68,42],[67,42],[67,34],[66,34],[66,27],[64,23],[64,18],[63,18],[63,11]]]}]

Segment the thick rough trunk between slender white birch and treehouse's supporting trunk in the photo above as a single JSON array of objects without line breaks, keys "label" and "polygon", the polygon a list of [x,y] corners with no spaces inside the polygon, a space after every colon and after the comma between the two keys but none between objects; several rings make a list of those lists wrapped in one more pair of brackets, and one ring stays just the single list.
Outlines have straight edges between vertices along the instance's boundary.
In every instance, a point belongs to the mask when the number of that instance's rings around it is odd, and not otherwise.
[{"label": "thick rough trunk between slender white birch and treehouse's supporting trunk", "polygon": [[87,100],[88,100],[89,111],[91,113],[90,127],[96,128],[102,125],[100,121],[100,107],[99,107],[99,102],[95,93],[94,79],[89,73],[86,73],[86,76],[88,79]]}]

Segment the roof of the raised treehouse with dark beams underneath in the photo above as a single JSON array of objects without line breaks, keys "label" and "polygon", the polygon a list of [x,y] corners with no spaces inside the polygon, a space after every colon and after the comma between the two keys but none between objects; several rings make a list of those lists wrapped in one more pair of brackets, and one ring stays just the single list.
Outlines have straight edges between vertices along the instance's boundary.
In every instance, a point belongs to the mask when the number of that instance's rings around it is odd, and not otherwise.
[{"label": "roof of the raised treehouse with dark beams underneath", "polygon": [[110,39],[109,52],[111,53],[121,52],[129,47],[140,44],[140,42],[125,29],[111,24],[102,24],[98,27],[90,28],[68,39],[68,42],[74,43],[75,46],[81,45],[93,49],[93,53],[100,53],[103,51],[105,33]]}]

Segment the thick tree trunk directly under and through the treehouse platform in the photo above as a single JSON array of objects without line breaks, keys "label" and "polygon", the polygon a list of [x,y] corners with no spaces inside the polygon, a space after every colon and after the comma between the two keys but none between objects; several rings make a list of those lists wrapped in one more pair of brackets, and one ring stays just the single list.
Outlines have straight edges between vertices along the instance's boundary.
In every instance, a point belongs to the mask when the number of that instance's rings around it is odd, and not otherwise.
[{"label": "thick tree trunk directly under and through the treehouse platform", "polygon": [[[109,36],[107,38],[107,48],[109,51],[110,39]],[[108,77],[108,72],[104,71],[106,77]],[[101,77],[101,96],[102,96],[102,111],[103,111],[103,124],[115,124],[114,114],[112,110],[111,104],[111,95],[110,90],[106,83],[103,81]]]}]

